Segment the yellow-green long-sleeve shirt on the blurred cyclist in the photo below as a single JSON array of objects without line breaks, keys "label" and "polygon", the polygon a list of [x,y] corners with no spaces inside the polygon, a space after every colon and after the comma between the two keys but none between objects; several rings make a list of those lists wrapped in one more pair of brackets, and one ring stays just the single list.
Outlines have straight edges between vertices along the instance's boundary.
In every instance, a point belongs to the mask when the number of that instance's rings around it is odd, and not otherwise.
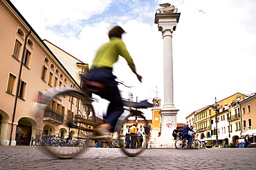
[{"label": "yellow-green long-sleeve shirt on the blurred cyclist", "polygon": [[91,65],[91,69],[99,67],[113,68],[113,63],[118,61],[119,55],[125,58],[129,67],[131,67],[131,71],[136,73],[134,61],[131,59],[125,43],[118,37],[111,37],[108,43],[100,47],[93,61],[93,65]]}]

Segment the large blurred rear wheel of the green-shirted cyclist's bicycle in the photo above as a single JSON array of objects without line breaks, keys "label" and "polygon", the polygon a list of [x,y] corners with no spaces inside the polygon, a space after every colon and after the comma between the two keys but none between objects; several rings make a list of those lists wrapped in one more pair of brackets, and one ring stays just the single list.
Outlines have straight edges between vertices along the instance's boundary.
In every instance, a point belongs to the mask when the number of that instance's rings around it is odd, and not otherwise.
[{"label": "large blurred rear wheel of the green-shirted cyclist's bicycle", "polygon": [[[50,121],[52,119],[52,123],[56,122],[57,119],[59,124],[64,125],[62,128],[67,129],[67,131],[79,129],[79,132],[75,134],[77,140],[92,141],[93,127],[99,123],[96,123],[91,101],[82,91],[67,87],[50,89],[40,96],[39,105],[44,109],[44,118],[48,118]],[[66,119],[64,119],[65,114]],[[87,148],[87,145],[71,147],[70,145],[56,145],[56,143],[55,145],[48,145],[46,142],[42,142],[42,146],[39,148],[46,153],[63,159],[78,156]]]}]

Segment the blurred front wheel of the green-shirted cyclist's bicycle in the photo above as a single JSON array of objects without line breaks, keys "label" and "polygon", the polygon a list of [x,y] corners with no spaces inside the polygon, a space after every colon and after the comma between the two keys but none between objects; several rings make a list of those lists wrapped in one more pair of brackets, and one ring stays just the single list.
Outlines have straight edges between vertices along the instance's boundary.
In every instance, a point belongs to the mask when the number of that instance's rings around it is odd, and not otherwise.
[{"label": "blurred front wheel of the green-shirted cyclist's bicycle", "polygon": [[[138,120],[142,123],[145,123],[147,127],[148,127],[148,123],[145,116],[143,116],[143,112],[135,111],[135,110],[129,110],[129,111],[130,111],[130,114],[128,116],[126,116],[125,118],[120,118],[120,120],[118,120],[118,125],[117,125],[118,142],[120,145],[120,149],[122,150],[123,153],[125,153],[127,156],[134,157],[140,154],[144,150],[144,148],[141,147],[141,145],[138,145],[138,142],[136,143],[136,148],[134,149],[130,149],[129,146],[125,146],[125,129],[127,128],[128,125],[133,125],[134,123],[136,124]],[[140,129],[140,127],[138,128]],[[129,137],[137,138],[137,134],[129,135]]]}]

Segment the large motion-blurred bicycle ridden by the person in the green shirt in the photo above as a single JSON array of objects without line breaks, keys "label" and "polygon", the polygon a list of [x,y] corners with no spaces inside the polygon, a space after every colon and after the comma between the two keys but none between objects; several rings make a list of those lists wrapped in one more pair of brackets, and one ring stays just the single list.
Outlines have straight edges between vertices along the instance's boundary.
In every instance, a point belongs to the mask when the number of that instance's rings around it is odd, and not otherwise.
[{"label": "large motion-blurred bicycle ridden by the person in the green shirt", "polygon": [[[97,98],[91,94],[100,94],[101,92],[104,92],[104,85],[98,82],[88,81],[86,82],[86,87],[86,90],[83,91],[81,89],[74,89],[71,87],[55,87],[48,89],[39,97],[38,106],[44,110],[44,113],[56,112],[57,106],[55,103],[56,101],[61,101],[63,106],[66,105],[66,107],[68,107],[65,109],[68,109],[70,112],[73,112],[73,110],[76,111],[75,115],[67,115],[68,127],[78,129],[80,131],[80,134],[82,135],[81,137],[76,137],[77,140],[85,140],[87,143],[93,143],[93,140],[95,139],[99,141],[98,138],[95,138],[95,127],[98,127],[98,125],[103,121],[95,116],[93,103],[97,102]],[[115,131],[118,133],[118,143],[122,152],[127,156],[133,157],[141,153],[143,148],[138,147],[136,149],[125,149],[125,134],[123,134],[123,129],[125,128],[124,125],[126,125],[125,123],[127,120],[129,120],[129,123],[136,123],[138,119],[143,120],[147,125],[147,120],[143,115],[143,112],[138,109],[146,109],[153,105],[151,103],[147,103],[145,100],[140,103],[129,102],[126,100],[124,101],[124,105],[125,111],[118,119]],[[42,142],[42,144],[42,148],[46,153],[50,153],[52,156],[57,158],[73,158],[89,148],[89,145],[77,145],[77,147],[55,147],[53,145],[47,145],[44,142]]]}]

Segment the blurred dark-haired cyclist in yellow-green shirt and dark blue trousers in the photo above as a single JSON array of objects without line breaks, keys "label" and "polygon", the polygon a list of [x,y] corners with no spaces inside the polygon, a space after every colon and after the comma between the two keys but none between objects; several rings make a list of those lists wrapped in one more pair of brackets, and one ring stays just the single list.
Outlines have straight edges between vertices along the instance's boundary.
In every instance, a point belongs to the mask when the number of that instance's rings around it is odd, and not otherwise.
[{"label": "blurred dark-haired cyclist in yellow-green shirt and dark blue trousers", "polygon": [[[138,81],[141,82],[142,80],[142,76],[137,74],[134,61],[127,51],[125,43],[122,41],[122,34],[124,33],[125,30],[120,26],[116,26],[109,31],[109,42],[102,45],[98,50],[88,74],[90,81],[96,81],[106,86],[105,92],[99,95],[101,98],[109,100],[107,116],[104,123],[96,129],[98,136],[106,136],[106,138],[110,136],[110,132],[114,131],[118,118],[124,111],[118,83],[115,80],[116,76],[112,72],[113,64],[118,61],[119,55],[125,58]],[[86,88],[86,78],[83,78],[82,81],[84,81],[84,88]]]}]

